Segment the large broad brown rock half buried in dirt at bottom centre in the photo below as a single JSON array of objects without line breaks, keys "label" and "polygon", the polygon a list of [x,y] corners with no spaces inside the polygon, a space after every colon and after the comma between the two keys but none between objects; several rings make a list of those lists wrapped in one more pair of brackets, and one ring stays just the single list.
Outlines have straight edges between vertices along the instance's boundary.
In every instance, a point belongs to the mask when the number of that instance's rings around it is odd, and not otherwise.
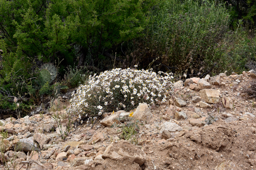
[{"label": "large broad brown rock half buried in dirt at bottom centre", "polygon": [[115,141],[109,145],[102,154],[102,158],[110,158],[118,161],[130,159],[139,165],[143,165],[147,161],[146,154],[139,146],[132,145],[124,140]]}]

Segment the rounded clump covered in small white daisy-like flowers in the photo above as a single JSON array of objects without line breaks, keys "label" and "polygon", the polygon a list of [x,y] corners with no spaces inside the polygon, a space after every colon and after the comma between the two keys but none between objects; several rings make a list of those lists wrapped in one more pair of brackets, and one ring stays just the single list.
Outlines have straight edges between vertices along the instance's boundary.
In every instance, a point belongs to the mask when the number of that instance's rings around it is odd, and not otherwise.
[{"label": "rounded clump covered in small white daisy-like flowers", "polygon": [[139,103],[166,102],[166,91],[173,91],[172,73],[150,70],[116,68],[89,76],[72,94],[69,111],[81,114],[87,123],[101,117],[103,112],[129,111]]}]

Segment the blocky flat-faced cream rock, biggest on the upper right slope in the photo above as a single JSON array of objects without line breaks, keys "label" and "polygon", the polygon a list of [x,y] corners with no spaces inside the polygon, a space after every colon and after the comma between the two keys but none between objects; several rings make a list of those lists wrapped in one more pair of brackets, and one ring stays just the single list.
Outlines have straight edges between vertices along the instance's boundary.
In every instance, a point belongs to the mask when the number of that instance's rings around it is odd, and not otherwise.
[{"label": "blocky flat-faced cream rock, biggest on the upper right slope", "polygon": [[200,97],[207,103],[219,102],[219,91],[214,89],[204,89],[199,91]]}]

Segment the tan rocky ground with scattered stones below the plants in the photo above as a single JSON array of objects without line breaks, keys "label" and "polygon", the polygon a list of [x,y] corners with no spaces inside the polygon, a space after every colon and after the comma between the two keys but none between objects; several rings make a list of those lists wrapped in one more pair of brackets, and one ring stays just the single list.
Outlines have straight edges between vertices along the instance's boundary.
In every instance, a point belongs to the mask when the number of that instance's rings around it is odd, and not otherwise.
[{"label": "tan rocky ground with scattered stones below the plants", "polygon": [[[120,140],[118,128],[110,127],[132,111],[105,114],[92,128],[75,123],[65,141],[54,112],[1,120],[1,169],[256,169],[254,99],[243,92],[255,78],[249,71],[176,82],[168,102],[133,110],[145,124],[137,145]],[[59,114],[65,130],[66,112]]]}]

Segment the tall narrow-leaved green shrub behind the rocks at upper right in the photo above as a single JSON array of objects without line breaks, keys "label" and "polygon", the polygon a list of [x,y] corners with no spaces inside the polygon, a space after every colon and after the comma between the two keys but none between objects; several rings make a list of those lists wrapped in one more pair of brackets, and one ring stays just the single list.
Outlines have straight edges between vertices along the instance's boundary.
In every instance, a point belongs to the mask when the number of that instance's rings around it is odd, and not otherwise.
[{"label": "tall narrow-leaved green shrub behind the rocks at upper right", "polygon": [[213,74],[241,72],[255,56],[255,40],[241,25],[230,31],[229,16],[224,5],[207,0],[166,0],[150,14],[145,37],[132,44],[133,55],[140,56],[142,68],[153,63],[158,70],[200,76],[216,63]]}]

